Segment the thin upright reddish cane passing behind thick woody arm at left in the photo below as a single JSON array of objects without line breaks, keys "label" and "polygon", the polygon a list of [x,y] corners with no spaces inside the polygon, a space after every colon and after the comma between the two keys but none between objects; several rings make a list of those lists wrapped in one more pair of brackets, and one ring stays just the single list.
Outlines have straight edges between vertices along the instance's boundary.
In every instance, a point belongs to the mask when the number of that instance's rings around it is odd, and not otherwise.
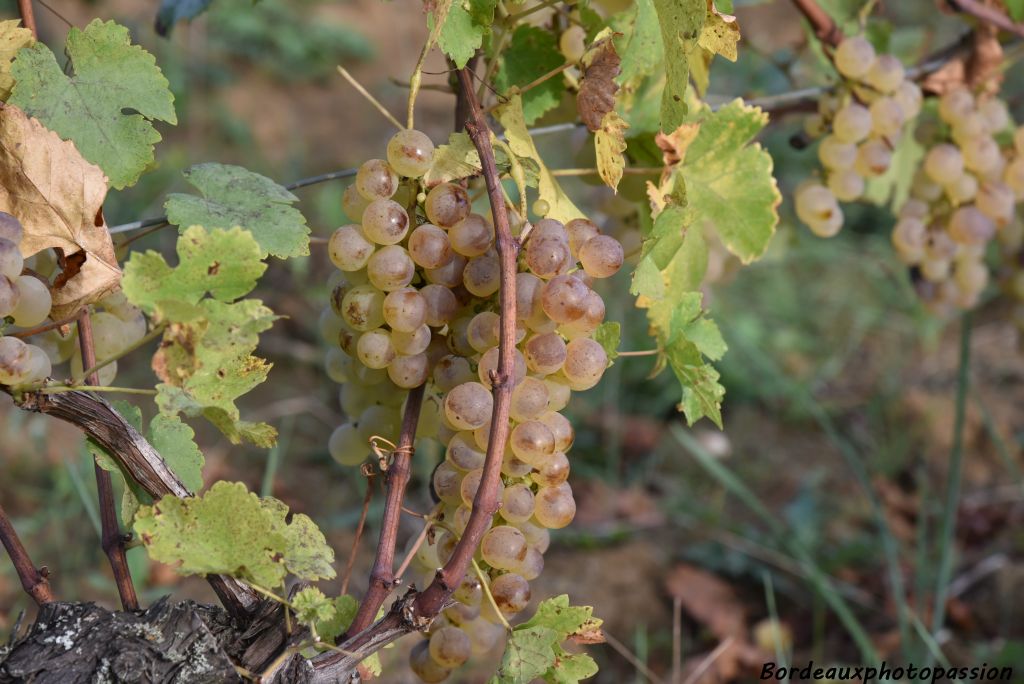
[{"label": "thin upright reddish cane passing behind thick woody arm at left", "polygon": [[[78,319],[78,342],[82,351],[82,366],[89,369],[85,373],[85,382],[99,385],[99,376],[96,374],[98,369],[95,368],[96,346],[92,338],[92,320],[88,308],[82,311]],[[111,473],[100,468],[98,461],[94,461],[92,467],[96,473],[96,494],[99,498],[100,546],[111,563],[122,607],[125,610],[138,610],[138,596],[135,594],[128,557],[125,555],[125,535],[121,531],[114,504],[114,482]]]}]

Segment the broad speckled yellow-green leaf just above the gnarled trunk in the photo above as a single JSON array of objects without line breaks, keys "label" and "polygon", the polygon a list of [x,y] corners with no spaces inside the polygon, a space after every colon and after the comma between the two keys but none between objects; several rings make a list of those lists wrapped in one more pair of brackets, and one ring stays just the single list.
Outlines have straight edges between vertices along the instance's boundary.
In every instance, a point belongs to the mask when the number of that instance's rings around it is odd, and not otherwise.
[{"label": "broad speckled yellow-green leaf just above the gnarled trunk", "polygon": [[201,497],[143,506],[135,531],[151,558],[180,574],[228,574],[264,589],[283,586],[289,572],[307,582],[335,576],[323,532],[305,515],[287,516],[280,501],[220,481]]}]

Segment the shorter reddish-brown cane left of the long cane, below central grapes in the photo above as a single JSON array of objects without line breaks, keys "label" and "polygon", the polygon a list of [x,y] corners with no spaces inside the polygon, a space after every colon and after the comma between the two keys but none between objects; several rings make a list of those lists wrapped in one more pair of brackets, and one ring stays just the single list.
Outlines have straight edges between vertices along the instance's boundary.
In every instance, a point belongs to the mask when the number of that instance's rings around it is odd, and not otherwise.
[{"label": "shorter reddish-brown cane left of the long cane, below central grapes", "polygon": [[355,617],[348,628],[349,634],[358,634],[370,627],[377,611],[384,604],[388,594],[395,587],[394,550],[398,542],[398,524],[401,522],[401,502],[406,498],[411,463],[415,452],[416,426],[420,422],[420,408],[423,405],[424,386],[409,392],[406,413],[401,417],[401,433],[398,445],[392,452],[391,463],[385,475],[387,497],[384,500],[384,515],[381,519],[381,536],[377,544],[374,566],[370,571],[370,588],[359,604]]}]

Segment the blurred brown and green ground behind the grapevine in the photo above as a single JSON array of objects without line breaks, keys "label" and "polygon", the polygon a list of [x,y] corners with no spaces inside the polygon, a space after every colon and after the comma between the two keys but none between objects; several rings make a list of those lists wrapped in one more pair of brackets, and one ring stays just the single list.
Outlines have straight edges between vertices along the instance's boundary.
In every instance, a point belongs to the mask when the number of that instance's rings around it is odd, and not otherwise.
[{"label": "blurred brown and green ground behind the grapevine", "polygon": [[[610,13],[626,0],[593,0]],[[736,63],[718,59],[708,99],[771,95],[827,83],[830,71],[787,0],[735,0],[743,32]],[[392,111],[425,38],[412,0],[214,0],[209,13],[179,24],[169,39],[153,29],[156,2],[95,0],[37,5],[41,37],[58,47],[67,23],[114,18],[154,52],[171,81],[179,117],[164,127],[157,166],[138,185],[113,194],[111,225],[162,213],[181,170],[205,161],[242,164],[287,182],[352,167],[383,153],[389,124],[337,75],[345,65]],[[859,0],[822,2],[849,27]],[[0,14],[15,16],[10,0]],[[538,13],[538,20],[551,15]],[[954,41],[968,26],[929,2],[883,2],[871,23],[877,40],[907,61]],[[444,86],[445,66],[432,58],[427,81]],[[1024,117],[1020,67],[1007,99]],[[452,130],[454,98],[420,97],[418,122],[435,140]],[[562,108],[539,122],[564,120]],[[790,144],[799,117],[774,121],[762,136],[788,196],[815,165],[813,151]],[[592,165],[582,133],[541,139],[552,168]],[[620,196],[596,179],[568,178],[578,204],[627,242],[635,241],[643,184],[627,177]],[[314,234],[343,222],[341,182],[300,190]],[[943,539],[944,505],[957,392],[957,322],[938,320],[918,304],[908,275],[888,245],[892,216],[878,208],[848,212],[831,241],[800,229],[792,208],[761,262],[713,264],[707,291],[730,350],[720,365],[727,397],[724,432],[683,427],[674,382],[648,377],[650,358],[621,359],[594,390],[573,398],[578,429],[571,458],[580,491],[577,522],[555,536],[537,598],[568,592],[593,604],[609,634],[658,677],[673,653],[687,672],[725,639],[700,681],[756,678],[751,652],[802,662],[861,660],[849,624],[828,606],[845,601],[853,621],[890,661],[923,660],[930,651],[957,664],[982,660],[1024,669],[1024,481],[1021,447],[1024,364],[998,301],[974,316],[967,394],[965,468],[956,531]],[[173,247],[156,231],[132,249]],[[635,243],[634,243],[635,244]],[[328,299],[325,255],[274,261],[258,295],[287,318],[265,336],[260,353],[274,364],[270,381],[246,397],[244,415],[273,423],[281,441],[269,452],[227,444],[197,424],[207,454],[207,481],[246,481],[308,513],[344,562],[367,486],[327,454],[340,419],[337,387],[322,373],[316,320]],[[650,346],[642,312],[628,295],[628,273],[605,285],[608,317],[623,322],[624,349]],[[122,366],[125,383],[152,385],[144,356]],[[74,430],[0,403],[0,497],[34,558],[48,564],[57,595],[113,606],[116,593],[98,546],[92,468]],[[425,510],[435,454],[422,450],[410,506]],[[382,497],[359,551],[353,589],[372,560]],[[881,524],[880,524],[881,523]],[[411,524],[403,531],[417,531]],[[947,629],[926,640],[900,614],[930,624],[936,559],[956,549]],[[145,601],[174,592],[210,600],[206,586],[130,553]],[[827,579],[824,584],[821,578]],[[894,594],[893,580],[903,584]],[[337,588],[333,588],[337,590]],[[709,597],[714,597],[710,600]],[[675,606],[675,607],[674,607]],[[30,610],[10,566],[0,562],[0,635]],[[682,638],[673,637],[677,611]],[[398,650],[398,649],[396,649]],[[592,649],[601,682],[646,681],[610,646]],[[385,681],[404,681],[403,661]],[[760,667],[758,665],[758,667]],[[483,681],[485,668],[458,673]],[[718,679],[709,679],[716,677]]]}]

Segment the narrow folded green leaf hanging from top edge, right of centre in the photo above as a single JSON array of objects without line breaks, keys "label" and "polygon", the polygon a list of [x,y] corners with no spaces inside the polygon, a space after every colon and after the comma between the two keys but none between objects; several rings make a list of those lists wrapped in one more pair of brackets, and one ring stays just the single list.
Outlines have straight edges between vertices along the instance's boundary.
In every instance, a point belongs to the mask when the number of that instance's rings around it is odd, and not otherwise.
[{"label": "narrow folded green leaf hanging from top edge, right of centre", "polygon": [[653,0],[665,49],[668,81],[662,94],[662,130],[675,130],[686,117],[689,53],[696,46],[708,13],[707,0]]}]

